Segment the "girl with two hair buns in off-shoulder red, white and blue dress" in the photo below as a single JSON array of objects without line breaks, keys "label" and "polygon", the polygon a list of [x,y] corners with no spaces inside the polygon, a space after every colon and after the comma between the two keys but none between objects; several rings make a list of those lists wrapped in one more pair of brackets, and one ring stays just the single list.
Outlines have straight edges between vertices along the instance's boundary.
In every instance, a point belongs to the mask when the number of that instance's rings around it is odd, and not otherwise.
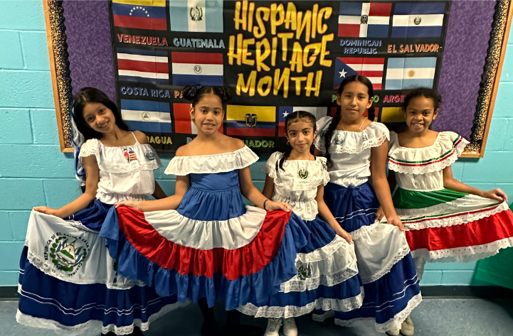
[{"label": "girl with two hair buns in off-shoulder red, white and blue dress", "polygon": [[[238,323],[236,308],[268,300],[296,275],[296,254],[310,232],[286,203],[255,188],[250,165],[258,156],[218,131],[229,90],[186,86],[183,97],[192,102],[198,136],[166,168],[176,175],[175,195],[120,202],[111,214],[117,220],[102,234],[122,276],[151,284],[162,296],[175,292],[179,300],[198,302],[203,335],[258,335]],[[258,207],[245,206],[243,196]],[[230,310],[221,334],[212,310],[216,300]]]}]

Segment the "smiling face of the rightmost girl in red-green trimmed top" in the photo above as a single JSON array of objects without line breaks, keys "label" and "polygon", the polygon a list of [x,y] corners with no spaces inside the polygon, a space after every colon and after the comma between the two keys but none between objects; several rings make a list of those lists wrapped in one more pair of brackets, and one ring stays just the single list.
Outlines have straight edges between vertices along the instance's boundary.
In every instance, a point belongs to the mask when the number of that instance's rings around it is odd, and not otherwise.
[{"label": "smiling face of the rightmost girl in red-green trimmed top", "polygon": [[411,99],[403,113],[408,129],[418,134],[429,129],[438,116],[438,109],[435,111],[433,99],[421,96]]}]

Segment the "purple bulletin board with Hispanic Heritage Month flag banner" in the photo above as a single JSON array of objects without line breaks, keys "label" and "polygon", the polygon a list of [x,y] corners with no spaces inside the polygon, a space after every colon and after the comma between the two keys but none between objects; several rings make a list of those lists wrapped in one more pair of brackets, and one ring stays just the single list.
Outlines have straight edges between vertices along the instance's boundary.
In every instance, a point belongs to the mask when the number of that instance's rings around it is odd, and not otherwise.
[{"label": "purple bulletin board with Hispanic Heritage Month flag banner", "polygon": [[256,153],[285,146],[285,116],[336,110],[344,77],[374,87],[368,115],[400,130],[413,87],[443,96],[437,131],[482,157],[502,67],[509,1],[44,1],[61,148],[72,94],[93,86],[132,129],[174,152],[196,127],[184,85],[230,87],[221,132]]}]

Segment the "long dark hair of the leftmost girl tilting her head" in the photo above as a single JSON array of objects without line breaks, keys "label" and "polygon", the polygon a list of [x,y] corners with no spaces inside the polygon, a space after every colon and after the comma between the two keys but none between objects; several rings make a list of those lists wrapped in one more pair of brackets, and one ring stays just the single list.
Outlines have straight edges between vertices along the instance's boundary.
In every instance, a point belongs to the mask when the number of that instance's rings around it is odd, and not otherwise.
[{"label": "long dark hair of the leftmost girl tilting her head", "polygon": [[102,134],[90,128],[88,123],[84,119],[84,108],[89,103],[100,103],[104,104],[107,109],[112,111],[114,114],[116,125],[123,131],[129,131],[129,127],[125,124],[121,117],[120,110],[112,100],[107,97],[107,94],[95,87],[83,87],[77,94],[75,94],[73,102],[73,119],[77,125],[78,131],[83,134],[85,141],[89,139],[100,139]]}]

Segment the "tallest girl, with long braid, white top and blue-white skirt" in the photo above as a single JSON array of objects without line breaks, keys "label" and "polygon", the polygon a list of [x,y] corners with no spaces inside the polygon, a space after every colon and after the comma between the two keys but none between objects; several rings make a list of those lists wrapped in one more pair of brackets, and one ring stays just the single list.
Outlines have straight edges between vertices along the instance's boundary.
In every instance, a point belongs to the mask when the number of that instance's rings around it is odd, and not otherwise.
[{"label": "tallest girl, with long braid, white top and blue-white skirt", "polygon": [[[388,332],[398,330],[421,302],[421,290],[386,180],[388,129],[364,117],[373,95],[368,78],[347,77],[337,94],[337,113],[317,121],[314,144],[328,162],[330,182],[324,188],[324,202],[354,240],[365,291],[361,308],[335,312],[335,323],[347,326],[369,319],[375,321],[376,330]],[[389,224],[376,221],[380,203]],[[330,315],[319,312],[314,319]]]}]

